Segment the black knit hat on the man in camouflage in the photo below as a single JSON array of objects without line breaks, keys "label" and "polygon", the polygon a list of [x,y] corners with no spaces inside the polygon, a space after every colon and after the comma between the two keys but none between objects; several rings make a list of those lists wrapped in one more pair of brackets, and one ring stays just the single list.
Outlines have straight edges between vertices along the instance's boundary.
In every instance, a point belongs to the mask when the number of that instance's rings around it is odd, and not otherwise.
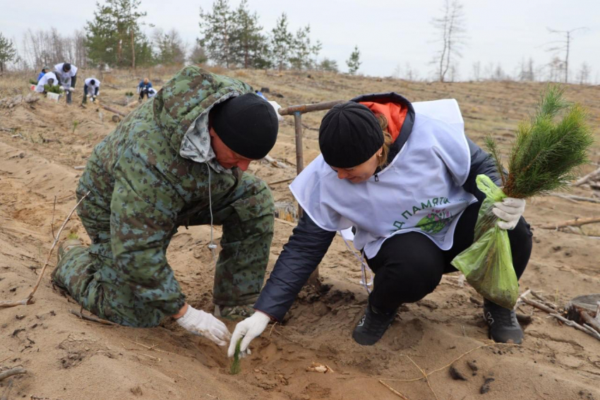
[{"label": "black knit hat on the man in camouflage", "polygon": [[212,111],[212,128],[237,154],[261,159],[277,140],[279,122],[275,109],[254,93],[246,93],[217,104]]}]

